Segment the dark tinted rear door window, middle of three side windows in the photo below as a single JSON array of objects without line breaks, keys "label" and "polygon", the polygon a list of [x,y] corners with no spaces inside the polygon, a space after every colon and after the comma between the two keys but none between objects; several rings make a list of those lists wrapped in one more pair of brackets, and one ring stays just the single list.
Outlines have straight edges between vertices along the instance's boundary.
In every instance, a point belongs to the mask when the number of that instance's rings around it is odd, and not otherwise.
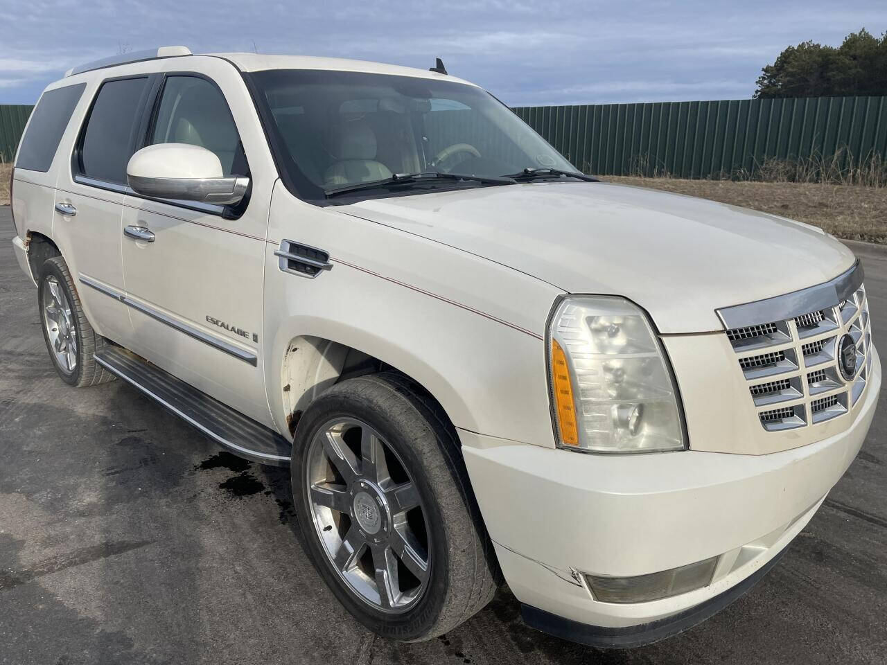
[{"label": "dark tinted rear door window, middle of three side windows", "polygon": [[104,83],[90,111],[80,145],[80,172],[106,183],[125,184],[148,89],[147,78]]}]

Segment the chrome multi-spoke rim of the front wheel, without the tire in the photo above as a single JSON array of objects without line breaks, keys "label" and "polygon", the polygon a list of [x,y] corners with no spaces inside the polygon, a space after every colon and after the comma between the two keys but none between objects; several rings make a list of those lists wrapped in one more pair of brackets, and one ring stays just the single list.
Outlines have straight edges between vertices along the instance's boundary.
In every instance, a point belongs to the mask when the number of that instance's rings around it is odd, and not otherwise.
[{"label": "chrome multi-spoke rim of the front wheel, without the tire", "polygon": [[306,461],[314,526],[341,579],[375,609],[406,612],[428,587],[431,560],[426,512],[403,462],[357,419],[320,427]]}]

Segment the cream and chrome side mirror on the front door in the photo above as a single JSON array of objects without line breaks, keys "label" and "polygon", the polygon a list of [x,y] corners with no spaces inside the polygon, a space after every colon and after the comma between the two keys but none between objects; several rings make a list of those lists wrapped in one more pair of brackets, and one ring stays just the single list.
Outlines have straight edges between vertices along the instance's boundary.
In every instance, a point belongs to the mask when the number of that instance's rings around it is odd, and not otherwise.
[{"label": "cream and chrome side mirror on the front door", "polygon": [[142,148],[130,158],[126,176],[137,194],[219,206],[239,203],[249,186],[247,177],[224,177],[215,153],[184,143]]}]

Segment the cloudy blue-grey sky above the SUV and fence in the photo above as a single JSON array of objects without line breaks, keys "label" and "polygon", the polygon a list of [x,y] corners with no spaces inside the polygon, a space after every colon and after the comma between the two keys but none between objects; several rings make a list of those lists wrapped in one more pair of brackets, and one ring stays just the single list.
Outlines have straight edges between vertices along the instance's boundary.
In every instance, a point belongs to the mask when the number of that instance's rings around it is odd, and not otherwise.
[{"label": "cloudy blue-grey sky above the SUV and fence", "polygon": [[512,106],[748,98],[787,45],[887,30],[885,0],[0,0],[0,104],[121,50],[339,56],[428,67]]}]

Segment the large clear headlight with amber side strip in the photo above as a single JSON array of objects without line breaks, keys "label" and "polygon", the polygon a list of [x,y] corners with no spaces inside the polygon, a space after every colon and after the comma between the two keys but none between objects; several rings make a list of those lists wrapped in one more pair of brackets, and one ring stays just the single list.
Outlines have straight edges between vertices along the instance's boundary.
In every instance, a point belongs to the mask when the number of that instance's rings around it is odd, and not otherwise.
[{"label": "large clear headlight with amber side strip", "polygon": [[678,390],[647,315],[615,296],[561,301],[548,326],[555,434],[569,450],[687,448]]}]

